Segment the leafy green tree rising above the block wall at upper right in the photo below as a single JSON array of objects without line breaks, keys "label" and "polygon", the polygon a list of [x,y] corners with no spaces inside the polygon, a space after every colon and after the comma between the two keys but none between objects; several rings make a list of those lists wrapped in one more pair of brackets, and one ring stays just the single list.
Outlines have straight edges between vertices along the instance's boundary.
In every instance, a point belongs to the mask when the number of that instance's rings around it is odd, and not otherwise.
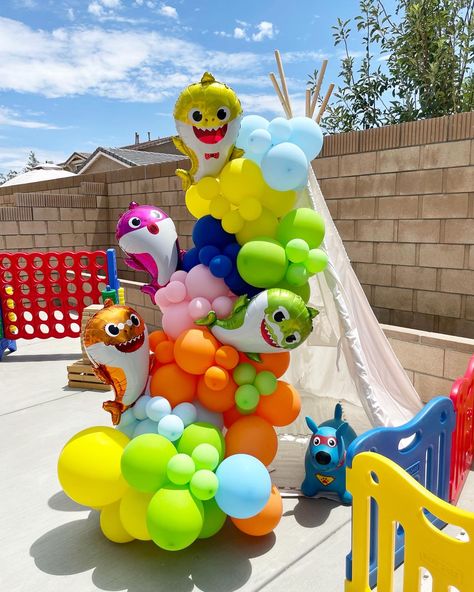
[{"label": "leafy green tree rising above the block wall at upper right", "polygon": [[[359,9],[333,27],[343,57],[323,120],[329,132],[474,109],[474,0],[399,0],[394,15],[382,0],[360,0]],[[357,66],[354,29],[363,49]]]}]

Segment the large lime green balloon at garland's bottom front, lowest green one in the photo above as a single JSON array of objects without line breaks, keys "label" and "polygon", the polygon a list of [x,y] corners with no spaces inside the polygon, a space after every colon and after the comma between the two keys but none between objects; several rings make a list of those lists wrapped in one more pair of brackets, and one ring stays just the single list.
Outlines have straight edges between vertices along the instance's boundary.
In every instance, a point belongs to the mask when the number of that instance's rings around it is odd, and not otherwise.
[{"label": "large lime green balloon at garland's bottom front, lowest green one", "polygon": [[167,551],[189,547],[202,531],[204,509],[187,486],[168,484],[151,499],[147,511],[152,540]]}]

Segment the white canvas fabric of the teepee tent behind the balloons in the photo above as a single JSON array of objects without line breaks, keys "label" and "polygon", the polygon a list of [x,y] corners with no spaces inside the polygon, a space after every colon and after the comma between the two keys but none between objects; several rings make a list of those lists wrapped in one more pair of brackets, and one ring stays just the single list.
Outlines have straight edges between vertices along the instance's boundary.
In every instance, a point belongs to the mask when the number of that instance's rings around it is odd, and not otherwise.
[{"label": "white canvas fabric of the teepee tent behind the balloons", "polygon": [[421,409],[421,400],[370,308],[311,167],[297,205],[312,207],[324,218],[321,248],[329,265],[310,280],[310,303],[320,314],[285,376],[301,394],[303,409],[281,431],[306,434],[305,416],[328,419],[337,401],[358,433],[405,423]]}]

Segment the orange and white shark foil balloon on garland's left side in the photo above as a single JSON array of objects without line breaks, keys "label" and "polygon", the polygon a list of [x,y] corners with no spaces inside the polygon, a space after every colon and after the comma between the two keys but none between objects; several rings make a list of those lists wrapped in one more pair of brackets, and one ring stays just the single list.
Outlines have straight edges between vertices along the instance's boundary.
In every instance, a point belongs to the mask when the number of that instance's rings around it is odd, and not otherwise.
[{"label": "orange and white shark foil balloon on garland's left side", "polygon": [[89,319],[83,342],[94,372],[115,391],[115,401],[106,401],[103,408],[116,425],[146,387],[151,363],[147,328],[132,308],[107,299]]}]

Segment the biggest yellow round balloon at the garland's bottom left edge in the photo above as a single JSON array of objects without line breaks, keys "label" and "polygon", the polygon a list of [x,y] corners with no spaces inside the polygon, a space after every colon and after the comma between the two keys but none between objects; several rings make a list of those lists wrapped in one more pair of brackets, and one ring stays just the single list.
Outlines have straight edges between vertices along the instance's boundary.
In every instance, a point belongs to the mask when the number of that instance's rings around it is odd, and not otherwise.
[{"label": "biggest yellow round balloon at the garland's bottom left edge", "polygon": [[95,508],[120,499],[127,489],[120,459],[129,441],[122,432],[104,426],[71,438],[58,460],[58,477],[65,493],[78,504]]}]

